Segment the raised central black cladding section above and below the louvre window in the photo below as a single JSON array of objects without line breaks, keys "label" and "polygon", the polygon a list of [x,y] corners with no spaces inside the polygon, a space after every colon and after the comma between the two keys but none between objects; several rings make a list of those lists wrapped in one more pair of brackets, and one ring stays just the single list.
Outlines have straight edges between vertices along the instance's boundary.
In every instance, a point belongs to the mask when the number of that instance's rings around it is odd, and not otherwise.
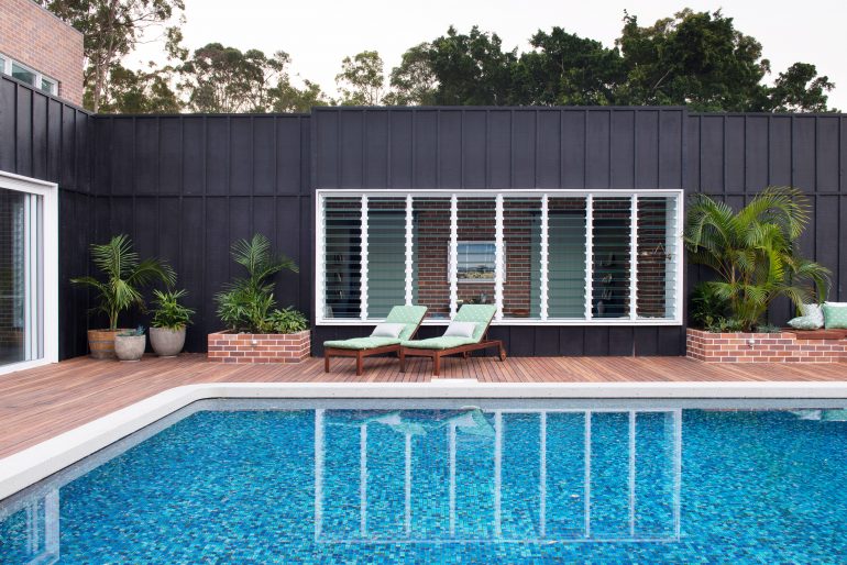
[{"label": "raised central black cladding section above and below the louvre window", "polygon": [[[689,188],[681,108],[315,109],[312,120],[315,188]],[[315,333],[321,342],[361,330]],[[679,326],[497,326],[492,333],[507,340],[514,355],[684,353]]]}]

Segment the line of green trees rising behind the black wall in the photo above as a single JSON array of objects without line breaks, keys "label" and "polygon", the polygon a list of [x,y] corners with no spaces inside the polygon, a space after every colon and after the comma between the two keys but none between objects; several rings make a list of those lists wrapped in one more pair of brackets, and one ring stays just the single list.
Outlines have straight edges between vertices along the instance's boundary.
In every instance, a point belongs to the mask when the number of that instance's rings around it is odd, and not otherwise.
[{"label": "line of green trees rising behind the black wall", "polygon": [[[38,0],[36,0],[38,1]],[[418,43],[386,75],[376,51],[341,62],[339,99],[293,79],[283,51],[220,43],[189,52],[183,0],[40,0],[86,35],[86,106],[103,112],[288,112],[314,106],[686,106],[697,111],[827,112],[835,85],[796,62],[771,79],[762,45],[721,10],[684,9],[644,25],[625,12],[613,45],[561,26],[538,30],[530,48],[507,48],[473,26]],[[145,29],[165,30],[167,65],[122,64]]]}]

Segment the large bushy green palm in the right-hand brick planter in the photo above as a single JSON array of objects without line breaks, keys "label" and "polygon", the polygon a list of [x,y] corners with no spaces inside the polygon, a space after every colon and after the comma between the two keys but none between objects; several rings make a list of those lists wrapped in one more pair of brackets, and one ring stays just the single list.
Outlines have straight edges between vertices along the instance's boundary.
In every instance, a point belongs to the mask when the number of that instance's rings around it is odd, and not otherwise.
[{"label": "large bushy green palm in the right-hand brick planter", "polygon": [[689,256],[717,274],[706,285],[728,301],[745,331],[779,297],[798,307],[813,295],[825,300],[829,269],[798,248],[809,212],[806,198],[791,187],[768,187],[738,212],[706,195],[692,197],[684,231]]}]

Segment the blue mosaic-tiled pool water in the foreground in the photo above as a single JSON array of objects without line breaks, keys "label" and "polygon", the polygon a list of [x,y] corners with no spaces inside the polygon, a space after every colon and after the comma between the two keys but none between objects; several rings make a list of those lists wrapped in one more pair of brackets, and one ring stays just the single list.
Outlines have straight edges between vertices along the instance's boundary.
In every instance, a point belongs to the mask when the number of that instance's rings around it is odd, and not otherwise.
[{"label": "blue mosaic-tiled pool water in the foreground", "polygon": [[0,503],[0,563],[847,560],[844,411],[481,407],[194,407]]}]

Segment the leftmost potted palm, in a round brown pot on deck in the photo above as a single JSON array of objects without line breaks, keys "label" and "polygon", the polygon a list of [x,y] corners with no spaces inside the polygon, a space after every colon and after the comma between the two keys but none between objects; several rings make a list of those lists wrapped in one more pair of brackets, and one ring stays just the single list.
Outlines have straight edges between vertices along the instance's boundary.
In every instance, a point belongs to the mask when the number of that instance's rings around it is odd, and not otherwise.
[{"label": "leftmost potted palm, in a round brown pot on deck", "polygon": [[76,277],[70,282],[91,288],[97,301],[91,310],[109,320],[109,328],[88,331],[91,356],[114,358],[114,336],[122,331],[118,328],[121,312],[132,307],[144,307],[142,289],[148,284],[161,280],[172,286],[176,276],[166,263],[155,258],[141,259],[132,250],[132,241],[123,234],[116,235],[109,243],[92,244],[91,261],[100,272],[100,278]]}]

